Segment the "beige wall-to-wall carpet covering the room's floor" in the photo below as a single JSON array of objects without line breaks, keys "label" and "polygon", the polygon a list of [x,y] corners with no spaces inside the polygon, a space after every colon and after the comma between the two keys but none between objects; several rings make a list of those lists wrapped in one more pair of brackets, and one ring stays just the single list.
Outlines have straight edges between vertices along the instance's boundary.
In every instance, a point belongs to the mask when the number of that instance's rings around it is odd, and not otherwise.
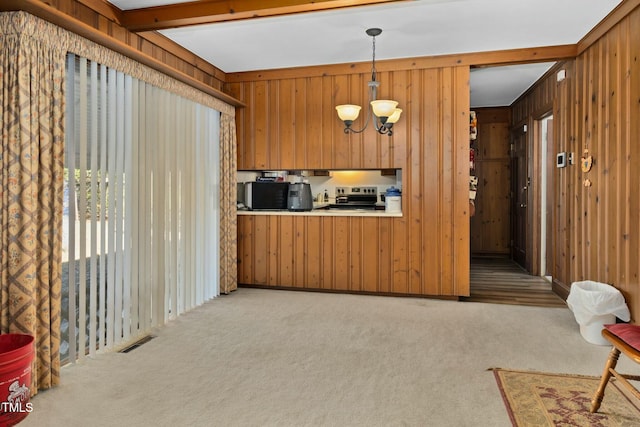
[{"label": "beige wall-to-wall carpet covering the room's floor", "polygon": [[487,368],[599,375],[609,350],[566,308],[247,288],[154,333],[21,426],[509,426]]}]

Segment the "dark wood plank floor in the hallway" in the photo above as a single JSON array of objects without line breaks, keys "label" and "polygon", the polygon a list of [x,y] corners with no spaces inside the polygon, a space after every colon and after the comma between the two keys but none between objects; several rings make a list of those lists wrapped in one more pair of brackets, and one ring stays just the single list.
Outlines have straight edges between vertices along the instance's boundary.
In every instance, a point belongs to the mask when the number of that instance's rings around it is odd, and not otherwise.
[{"label": "dark wood plank floor in the hallway", "polygon": [[551,283],[532,276],[507,258],[471,258],[471,296],[463,301],[494,304],[566,307]]}]

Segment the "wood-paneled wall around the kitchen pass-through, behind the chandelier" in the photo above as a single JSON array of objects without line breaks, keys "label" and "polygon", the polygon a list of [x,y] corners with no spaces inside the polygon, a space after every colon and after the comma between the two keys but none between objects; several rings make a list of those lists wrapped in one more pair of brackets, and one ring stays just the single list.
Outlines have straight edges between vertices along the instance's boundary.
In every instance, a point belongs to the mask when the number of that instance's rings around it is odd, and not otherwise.
[{"label": "wood-paneled wall around the kitchen pass-through, behind the chandelier", "polygon": [[366,105],[370,75],[344,69],[236,76],[226,90],[247,105],[236,116],[238,168],[399,168],[403,217],[239,216],[239,282],[468,295],[469,67],[380,72],[379,98],[404,110],[391,138],[372,125],[344,134],[334,107]]}]

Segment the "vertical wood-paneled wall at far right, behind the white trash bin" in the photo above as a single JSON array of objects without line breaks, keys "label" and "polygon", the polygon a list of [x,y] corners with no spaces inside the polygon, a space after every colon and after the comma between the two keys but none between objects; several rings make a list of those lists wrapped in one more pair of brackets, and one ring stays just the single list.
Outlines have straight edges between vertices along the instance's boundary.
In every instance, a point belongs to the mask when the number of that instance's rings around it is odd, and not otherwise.
[{"label": "vertical wood-paneled wall at far right, behind the white trash bin", "polygon": [[[552,104],[556,151],[576,162],[555,173],[554,283],[595,280],[620,289],[640,320],[640,8],[555,70],[513,109],[531,123]],[[593,168],[583,172],[588,149]],[[591,186],[585,186],[589,180]]]}]

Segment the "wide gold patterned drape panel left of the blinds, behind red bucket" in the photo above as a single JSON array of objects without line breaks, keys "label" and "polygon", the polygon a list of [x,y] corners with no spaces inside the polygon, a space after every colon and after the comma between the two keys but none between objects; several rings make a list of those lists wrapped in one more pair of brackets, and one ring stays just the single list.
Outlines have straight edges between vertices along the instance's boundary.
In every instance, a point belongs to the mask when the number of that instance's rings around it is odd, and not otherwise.
[{"label": "wide gold patterned drape panel left of the blinds, behind red bucket", "polygon": [[66,51],[21,18],[0,15],[0,329],[35,337],[35,394],[60,378]]}]

